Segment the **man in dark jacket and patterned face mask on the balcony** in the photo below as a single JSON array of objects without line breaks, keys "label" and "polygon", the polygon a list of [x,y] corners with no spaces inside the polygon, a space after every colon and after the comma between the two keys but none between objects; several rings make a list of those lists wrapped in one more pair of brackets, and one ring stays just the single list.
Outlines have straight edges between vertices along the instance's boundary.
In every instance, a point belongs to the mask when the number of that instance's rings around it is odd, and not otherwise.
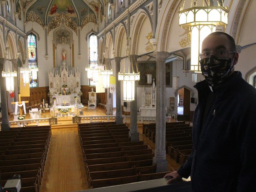
[{"label": "man in dark jacket and patterned face mask on the balcony", "polygon": [[195,192],[256,192],[256,89],[234,70],[238,57],[226,33],[203,40],[192,153],[168,183],[191,176]]}]

